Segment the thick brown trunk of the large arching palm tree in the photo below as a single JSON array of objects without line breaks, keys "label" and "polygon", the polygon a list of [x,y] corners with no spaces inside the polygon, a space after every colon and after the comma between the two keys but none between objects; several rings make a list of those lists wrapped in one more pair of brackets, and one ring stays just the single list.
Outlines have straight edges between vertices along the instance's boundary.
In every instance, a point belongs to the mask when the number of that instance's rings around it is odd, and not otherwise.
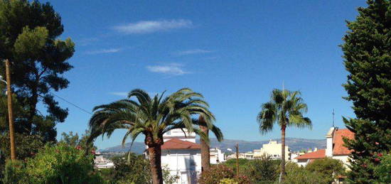
[{"label": "thick brown trunk of the large arching palm tree", "polygon": [[163,184],[163,173],[161,171],[161,145],[149,146],[149,163],[151,164],[152,183]]}]

